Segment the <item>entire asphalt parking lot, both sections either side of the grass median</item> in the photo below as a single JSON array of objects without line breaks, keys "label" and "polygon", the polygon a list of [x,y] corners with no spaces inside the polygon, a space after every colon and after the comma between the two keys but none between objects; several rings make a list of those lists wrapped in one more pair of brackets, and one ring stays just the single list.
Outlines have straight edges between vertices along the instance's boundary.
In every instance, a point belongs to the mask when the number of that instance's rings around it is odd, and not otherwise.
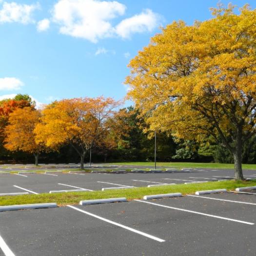
[{"label": "entire asphalt parking lot, both sections either side of the grass median", "polygon": [[[256,171],[245,170],[245,177]],[[0,193],[231,179],[233,170],[1,174]],[[251,193],[251,194],[250,194]],[[0,255],[255,256],[256,192],[0,212]]]}]

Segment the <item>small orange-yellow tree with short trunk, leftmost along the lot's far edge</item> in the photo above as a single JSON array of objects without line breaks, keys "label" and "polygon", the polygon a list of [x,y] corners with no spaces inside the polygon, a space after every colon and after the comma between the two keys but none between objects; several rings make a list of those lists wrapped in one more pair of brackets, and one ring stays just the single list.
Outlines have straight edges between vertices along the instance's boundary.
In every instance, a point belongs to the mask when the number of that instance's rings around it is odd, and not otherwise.
[{"label": "small orange-yellow tree with short trunk, leftmost along the lot's far edge", "polygon": [[9,115],[9,124],[5,127],[4,147],[10,151],[21,150],[31,153],[38,165],[42,143],[35,141],[35,126],[39,123],[40,112],[32,107],[18,108]]}]

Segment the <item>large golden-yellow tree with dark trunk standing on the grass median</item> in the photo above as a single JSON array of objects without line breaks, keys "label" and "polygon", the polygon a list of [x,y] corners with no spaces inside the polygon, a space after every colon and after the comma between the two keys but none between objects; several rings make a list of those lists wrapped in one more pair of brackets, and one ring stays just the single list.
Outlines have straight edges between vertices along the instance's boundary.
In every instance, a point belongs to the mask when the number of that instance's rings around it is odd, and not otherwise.
[{"label": "large golden-yellow tree with dark trunk standing on the grass median", "polygon": [[256,134],[256,10],[212,8],[213,18],[173,22],[131,60],[126,83],[151,130],[215,138],[234,156]]}]

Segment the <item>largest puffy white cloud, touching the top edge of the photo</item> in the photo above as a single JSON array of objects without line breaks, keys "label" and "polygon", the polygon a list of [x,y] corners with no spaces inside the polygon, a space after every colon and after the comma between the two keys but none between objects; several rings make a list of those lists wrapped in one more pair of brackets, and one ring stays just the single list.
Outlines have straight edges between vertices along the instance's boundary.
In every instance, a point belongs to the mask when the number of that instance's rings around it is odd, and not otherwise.
[{"label": "largest puffy white cloud, touching the top edge of the photo", "polygon": [[125,8],[117,1],[59,0],[52,14],[61,34],[97,42],[113,35],[110,20],[123,15]]}]

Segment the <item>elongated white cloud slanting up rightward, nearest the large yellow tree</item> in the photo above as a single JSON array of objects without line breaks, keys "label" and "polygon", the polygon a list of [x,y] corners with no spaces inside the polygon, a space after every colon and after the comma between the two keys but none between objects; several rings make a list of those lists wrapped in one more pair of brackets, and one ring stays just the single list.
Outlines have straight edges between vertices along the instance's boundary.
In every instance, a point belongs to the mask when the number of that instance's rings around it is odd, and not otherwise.
[{"label": "elongated white cloud slanting up rightward, nearest the large yellow tree", "polygon": [[150,9],[122,20],[116,26],[116,33],[122,38],[130,38],[134,33],[150,32],[158,26],[159,16]]}]

